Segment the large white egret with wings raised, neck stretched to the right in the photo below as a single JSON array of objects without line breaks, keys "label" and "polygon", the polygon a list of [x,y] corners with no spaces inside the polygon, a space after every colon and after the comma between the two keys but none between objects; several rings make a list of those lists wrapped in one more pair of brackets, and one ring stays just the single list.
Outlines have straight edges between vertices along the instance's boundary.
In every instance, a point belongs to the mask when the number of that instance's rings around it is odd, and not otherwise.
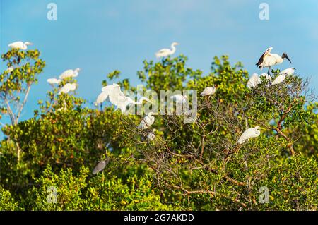
[{"label": "large white egret with wings raised, neck stretched to the right", "polygon": [[107,85],[106,87],[102,87],[102,92],[105,92],[106,93],[105,95],[107,95],[110,102],[117,107],[115,110],[121,109],[122,113],[126,111],[126,108],[130,104],[143,104],[143,100],[147,102],[151,102],[151,100],[149,100],[146,97],[141,97],[138,102],[135,102],[130,97],[125,96],[122,90],[120,90],[120,86],[117,85],[116,83],[112,85]]}]

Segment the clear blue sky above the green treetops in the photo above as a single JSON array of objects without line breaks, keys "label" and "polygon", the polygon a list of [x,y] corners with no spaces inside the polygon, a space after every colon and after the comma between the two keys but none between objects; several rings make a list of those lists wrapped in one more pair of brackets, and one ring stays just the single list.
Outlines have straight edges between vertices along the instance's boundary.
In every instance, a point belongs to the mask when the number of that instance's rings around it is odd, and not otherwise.
[{"label": "clear blue sky above the green treetops", "polygon": [[[136,71],[155,51],[179,42],[188,66],[208,73],[214,56],[228,54],[252,73],[261,53],[288,53],[297,73],[318,84],[318,1],[211,0],[0,0],[1,54],[8,44],[30,41],[47,63],[31,89],[23,118],[33,115],[50,86],[47,78],[81,68],[78,95],[93,102],[105,75],[114,69],[137,84]],[[57,20],[47,20],[47,4],[57,4]],[[259,4],[269,4],[269,20]],[[0,63],[4,71],[4,63]],[[278,68],[288,68],[284,62]],[[315,91],[318,94],[318,90]]]}]

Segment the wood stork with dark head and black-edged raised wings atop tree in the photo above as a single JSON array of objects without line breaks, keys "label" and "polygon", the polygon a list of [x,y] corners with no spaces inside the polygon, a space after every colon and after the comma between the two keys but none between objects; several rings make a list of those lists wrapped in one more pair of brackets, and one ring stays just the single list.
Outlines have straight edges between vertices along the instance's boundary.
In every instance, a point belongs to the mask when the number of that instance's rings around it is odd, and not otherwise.
[{"label": "wood stork with dark head and black-edged raised wings atop tree", "polygon": [[283,53],[282,56],[279,56],[278,54],[271,54],[271,49],[273,49],[273,47],[266,49],[264,54],[261,55],[261,58],[259,58],[259,61],[256,63],[256,65],[260,69],[262,69],[264,67],[268,67],[269,71],[267,73],[270,76],[271,76],[271,73],[270,73],[271,66],[275,66],[275,65],[283,63],[284,59],[288,59],[288,61],[291,63],[287,54]]}]

